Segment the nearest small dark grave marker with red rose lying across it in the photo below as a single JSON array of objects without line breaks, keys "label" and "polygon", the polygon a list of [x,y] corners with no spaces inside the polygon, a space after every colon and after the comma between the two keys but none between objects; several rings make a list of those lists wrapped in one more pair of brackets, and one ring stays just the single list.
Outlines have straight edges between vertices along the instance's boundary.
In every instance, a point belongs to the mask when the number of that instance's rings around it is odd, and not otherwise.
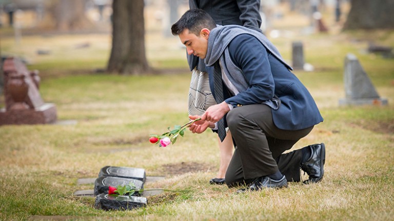
[{"label": "nearest small dark grave marker with red rose lying across it", "polygon": [[120,196],[99,194],[96,196],[94,208],[103,210],[128,210],[147,205],[145,197],[139,196]]}]

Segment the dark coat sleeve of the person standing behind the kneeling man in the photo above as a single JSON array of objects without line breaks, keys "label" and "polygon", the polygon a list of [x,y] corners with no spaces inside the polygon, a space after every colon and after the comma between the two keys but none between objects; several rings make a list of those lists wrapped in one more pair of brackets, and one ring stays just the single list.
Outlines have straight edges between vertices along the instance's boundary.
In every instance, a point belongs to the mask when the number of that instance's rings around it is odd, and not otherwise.
[{"label": "dark coat sleeve of the person standing behind the kneeling man", "polygon": [[240,20],[246,28],[261,31],[260,0],[237,0]]}]

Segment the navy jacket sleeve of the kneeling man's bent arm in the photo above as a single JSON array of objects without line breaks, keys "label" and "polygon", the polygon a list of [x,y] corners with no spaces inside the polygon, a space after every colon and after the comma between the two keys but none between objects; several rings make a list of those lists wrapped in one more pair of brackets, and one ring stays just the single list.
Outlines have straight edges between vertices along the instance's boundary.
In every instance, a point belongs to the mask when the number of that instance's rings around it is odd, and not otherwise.
[{"label": "navy jacket sleeve of the kneeling man's bent arm", "polygon": [[249,87],[226,99],[233,107],[260,104],[274,96],[275,85],[266,48],[248,34],[235,37],[228,46],[232,62],[239,67]]}]

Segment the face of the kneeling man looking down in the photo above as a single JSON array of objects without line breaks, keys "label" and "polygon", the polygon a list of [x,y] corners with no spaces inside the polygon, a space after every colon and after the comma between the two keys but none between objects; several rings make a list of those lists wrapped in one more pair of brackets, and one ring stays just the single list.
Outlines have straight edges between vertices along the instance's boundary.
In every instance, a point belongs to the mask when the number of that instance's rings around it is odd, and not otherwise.
[{"label": "face of the kneeling man looking down", "polygon": [[187,54],[193,54],[201,59],[205,58],[208,48],[208,29],[202,29],[200,36],[196,36],[195,34],[190,33],[189,29],[185,29],[178,36],[181,39],[181,42],[186,46]]}]

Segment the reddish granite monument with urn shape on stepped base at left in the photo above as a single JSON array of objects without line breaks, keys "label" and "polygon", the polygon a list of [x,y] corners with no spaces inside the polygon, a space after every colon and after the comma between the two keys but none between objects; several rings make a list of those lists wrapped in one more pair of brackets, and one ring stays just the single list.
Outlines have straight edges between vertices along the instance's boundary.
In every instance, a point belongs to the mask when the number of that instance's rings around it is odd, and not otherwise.
[{"label": "reddish granite monument with urn shape on stepped base at left", "polygon": [[4,96],[6,107],[0,109],[0,125],[47,124],[57,119],[56,106],[44,103],[38,88],[37,71],[29,71],[19,59],[4,61]]}]

